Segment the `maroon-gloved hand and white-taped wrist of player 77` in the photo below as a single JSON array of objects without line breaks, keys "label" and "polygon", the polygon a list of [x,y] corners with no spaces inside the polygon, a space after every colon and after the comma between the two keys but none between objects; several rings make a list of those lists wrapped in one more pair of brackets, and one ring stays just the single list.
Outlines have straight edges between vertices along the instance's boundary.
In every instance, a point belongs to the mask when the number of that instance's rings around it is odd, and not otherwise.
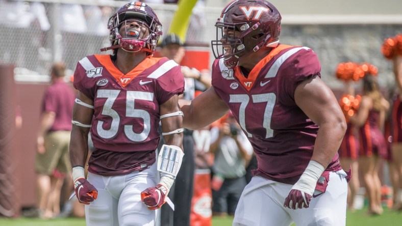
[{"label": "maroon-gloved hand and white-taped wrist of player 77", "polygon": [[284,207],[290,209],[308,208],[313,197],[318,178],[325,168],[316,161],[310,161],[300,179],[290,189]]}]

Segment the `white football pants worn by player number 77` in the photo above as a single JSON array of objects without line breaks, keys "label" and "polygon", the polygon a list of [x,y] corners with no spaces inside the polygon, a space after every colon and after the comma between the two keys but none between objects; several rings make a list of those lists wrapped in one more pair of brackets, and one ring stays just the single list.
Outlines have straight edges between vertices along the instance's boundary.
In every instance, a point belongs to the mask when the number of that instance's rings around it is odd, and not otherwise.
[{"label": "white football pants worn by player number 77", "polygon": [[244,188],[237,205],[236,226],[344,226],[346,224],[346,173],[330,173],[325,193],[313,197],[309,208],[283,206],[292,187],[262,177],[253,177]]}]

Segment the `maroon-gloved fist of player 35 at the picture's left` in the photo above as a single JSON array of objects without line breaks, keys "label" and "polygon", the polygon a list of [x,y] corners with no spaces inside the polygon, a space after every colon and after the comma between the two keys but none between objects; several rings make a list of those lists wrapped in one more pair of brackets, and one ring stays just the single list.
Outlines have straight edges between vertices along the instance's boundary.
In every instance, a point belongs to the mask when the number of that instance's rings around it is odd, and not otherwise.
[{"label": "maroon-gloved fist of player 35 at the picture's left", "polygon": [[85,205],[89,205],[98,196],[98,190],[85,178],[78,178],[74,182],[74,189],[76,190],[78,202]]}]

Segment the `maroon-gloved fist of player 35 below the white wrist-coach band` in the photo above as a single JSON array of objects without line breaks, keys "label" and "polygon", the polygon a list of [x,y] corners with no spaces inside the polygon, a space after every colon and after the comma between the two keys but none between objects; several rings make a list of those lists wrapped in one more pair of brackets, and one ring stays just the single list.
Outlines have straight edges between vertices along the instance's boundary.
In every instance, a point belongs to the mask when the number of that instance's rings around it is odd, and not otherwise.
[{"label": "maroon-gloved fist of player 35 below the white wrist-coach band", "polygon": [[149,187],[141,192],[141,201],[144,202],[148,209],[156,210],[166,202],[166,194],[166,187],[162,184],[157,184],[155,187]]}]

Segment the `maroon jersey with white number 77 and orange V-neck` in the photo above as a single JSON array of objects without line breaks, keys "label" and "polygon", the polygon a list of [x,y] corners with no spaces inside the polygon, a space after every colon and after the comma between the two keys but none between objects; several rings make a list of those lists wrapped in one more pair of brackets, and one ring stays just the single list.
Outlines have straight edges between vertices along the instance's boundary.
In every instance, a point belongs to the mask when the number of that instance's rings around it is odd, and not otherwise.
[{"label": "maroon jersey with white number 77 and orange V-neck", "polygon": [[[307,167],[318,126],[294,101],[297,85],[320,76],[317,55],[307,47],[279,45],[248,77],[215,60],[212,86],[227,103],[253,145],[258,169],[253,175],[294,184]],[[330,141],[329,141],[330,142]],[[339,170],[338,154],[327,170]]]}]

